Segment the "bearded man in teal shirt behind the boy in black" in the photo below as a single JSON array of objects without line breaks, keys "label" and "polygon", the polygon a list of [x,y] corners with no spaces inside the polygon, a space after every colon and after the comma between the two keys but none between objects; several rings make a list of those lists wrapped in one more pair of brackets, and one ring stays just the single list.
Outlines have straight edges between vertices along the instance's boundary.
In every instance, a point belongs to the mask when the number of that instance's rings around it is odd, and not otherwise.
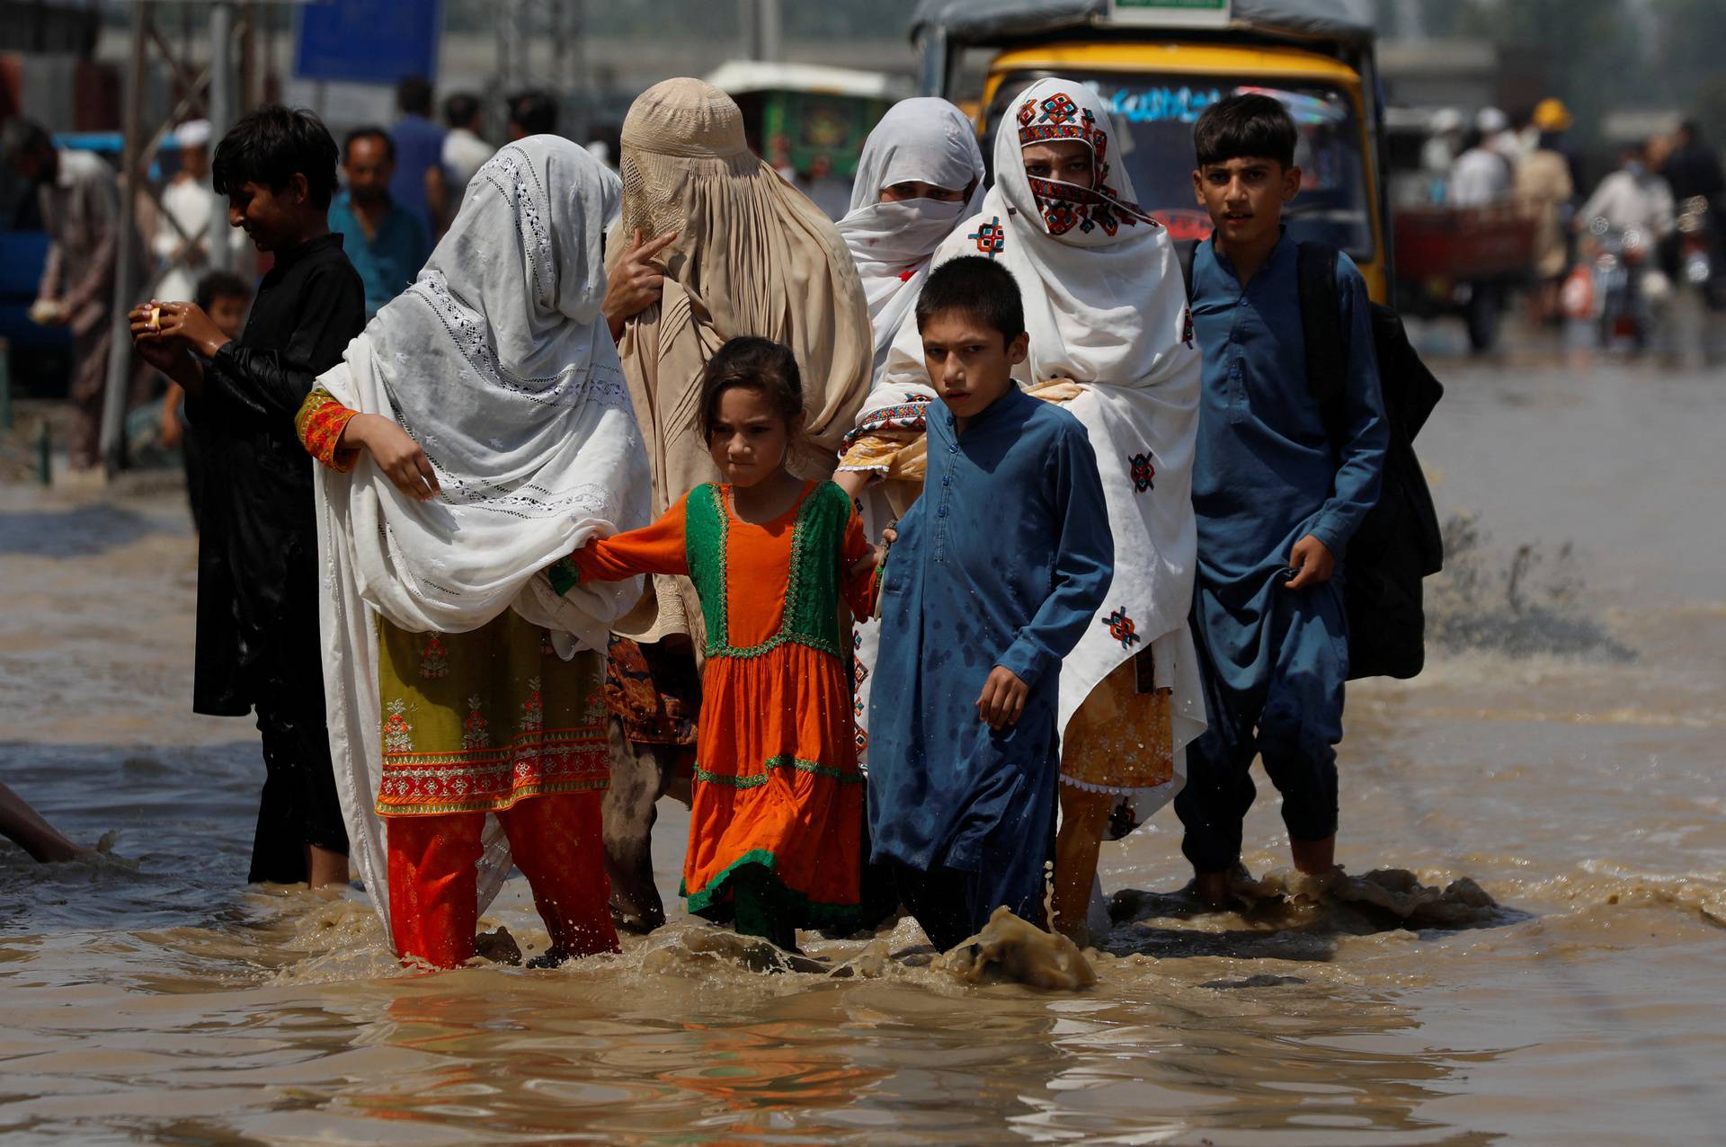
[{"label": "bearded man in teal shirt behind the boy in black", "polygon": [[359,128],[342,150],[347,191],[330,204],[330,229],[342,236],[366,285],[366,317],[378,314],[414,281],[426,255],[426,229],[390,195],[395,145],[383,128]]}]

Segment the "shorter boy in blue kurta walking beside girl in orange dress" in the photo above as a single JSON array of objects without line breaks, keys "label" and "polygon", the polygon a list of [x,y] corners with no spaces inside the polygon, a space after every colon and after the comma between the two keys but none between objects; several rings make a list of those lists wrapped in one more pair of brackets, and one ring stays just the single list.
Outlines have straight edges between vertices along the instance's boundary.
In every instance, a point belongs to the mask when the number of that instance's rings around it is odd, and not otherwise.
[{"label": "shorter boy in blue kurta walking beside girl in orange dress", "polygon": [[880,590],[868,818],[875,862],[946,950],[1003,904],[1043,923],[1060,666],[1115,543],[1084,426],[1013,383],[1029,342],[1013,276],[979,257],[937,267],[917,328],[941,404]]}]

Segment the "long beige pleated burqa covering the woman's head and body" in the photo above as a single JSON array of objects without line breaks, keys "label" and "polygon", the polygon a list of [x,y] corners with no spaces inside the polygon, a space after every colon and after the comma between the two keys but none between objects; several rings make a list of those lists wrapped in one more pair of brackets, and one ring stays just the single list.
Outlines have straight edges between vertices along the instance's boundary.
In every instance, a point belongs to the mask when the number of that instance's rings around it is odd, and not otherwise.
[{"label": "long beige pleated burqa covering the woman's head and body", "polygon": [[[616,269],[635,231],[642,240],[677,233],[661,255],[665,295],[618,342],[652,462],[654,514],[720,478],[697,424],[701,371],[739,335],[773,338],[797,355],[808,438],[791,469],[830,474],[873,362],[863,285],[834,224],[749,152],[737,103],[699,79],[666,79],[635,100],[621,164],[623,216],[606,269]],[[618,631],[644,642],[699,638],[699,624],[687,580],[654,578]]]}]

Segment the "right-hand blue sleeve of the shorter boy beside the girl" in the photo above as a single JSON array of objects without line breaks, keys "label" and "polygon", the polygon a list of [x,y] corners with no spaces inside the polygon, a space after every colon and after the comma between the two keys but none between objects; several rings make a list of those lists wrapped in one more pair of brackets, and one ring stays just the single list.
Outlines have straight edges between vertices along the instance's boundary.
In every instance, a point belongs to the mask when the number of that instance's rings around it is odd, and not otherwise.
[{"label": "right-hand blue sleeve of the shorter boy beside the girl", "polygon": [[1096,452],[1077,423],[1051,450],[1048,481],[1060,516],[1055,588],[996,661],[1032,686],[1074,650],[1115,576],[1115,536],[1108,528],[1103,478],[1096,471]]}]

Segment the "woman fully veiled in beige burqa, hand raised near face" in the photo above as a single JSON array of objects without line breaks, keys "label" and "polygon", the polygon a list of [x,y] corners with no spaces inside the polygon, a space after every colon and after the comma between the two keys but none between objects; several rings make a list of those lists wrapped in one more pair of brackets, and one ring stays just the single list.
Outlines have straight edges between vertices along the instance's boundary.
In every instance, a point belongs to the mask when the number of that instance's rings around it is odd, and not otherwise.
[{"label": "woman fully veiled in beige burqa, hand raised near face", "polygon": [[[873,354],[863,286],[834,224],[749,152],[742,112],[699,79],[666,79],[635,100],[621,167],[604,310],[652,462],[652,512],[720,479],[697,424],[699,379],[739,335],[797,355],[806,435],[792,469],[828,476]],[[687,788],[696,764],[704,636],[694,588],[668,576],[652,578],[613,636],[606,868],[627,928],[665,921],[649,838],[654,802],[680,778]]]}]

